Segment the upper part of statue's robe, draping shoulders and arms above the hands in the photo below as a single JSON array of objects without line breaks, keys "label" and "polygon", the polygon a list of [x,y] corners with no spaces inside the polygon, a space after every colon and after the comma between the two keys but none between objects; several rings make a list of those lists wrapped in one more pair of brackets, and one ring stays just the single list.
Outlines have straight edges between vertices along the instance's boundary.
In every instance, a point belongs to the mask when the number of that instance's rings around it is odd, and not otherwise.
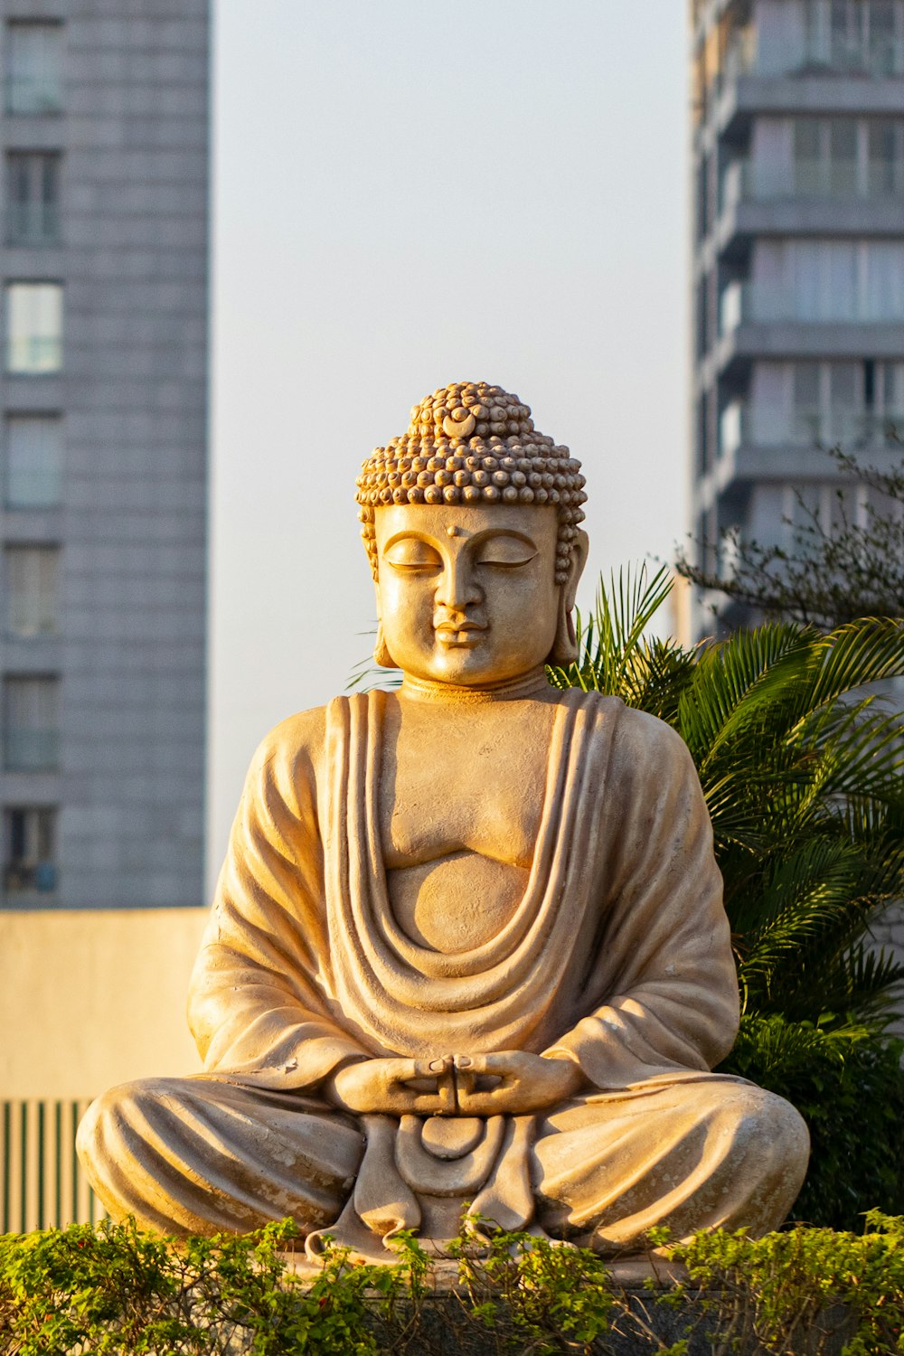
[{"label": "upper part of statue's robe, draping shoulders and arms above the hands", "polygon": [[571,1058],[600,1090],[712,1069],[737,980],[683,740],[617,698],[564,693],[525,898],[499,936],[442,955],[389,907],[384,701],[339,697],[258,750],[191,982],[205,1069],[283,1090],[350,1058],[447,1051]]}]

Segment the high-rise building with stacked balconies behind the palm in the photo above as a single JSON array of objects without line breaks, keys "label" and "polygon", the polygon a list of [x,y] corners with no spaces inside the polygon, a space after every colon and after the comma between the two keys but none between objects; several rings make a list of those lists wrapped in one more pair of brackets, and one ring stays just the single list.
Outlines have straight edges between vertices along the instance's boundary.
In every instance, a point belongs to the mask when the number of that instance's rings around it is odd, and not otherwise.
[{"label": "high-rise building with stacked balconies behind the palm", "polygon": [[839,488],[862,518],[820,449],[888,465],[904,430],[904,0],[691,15],[693,530],[716,571],[725,529],[831,530]]}]

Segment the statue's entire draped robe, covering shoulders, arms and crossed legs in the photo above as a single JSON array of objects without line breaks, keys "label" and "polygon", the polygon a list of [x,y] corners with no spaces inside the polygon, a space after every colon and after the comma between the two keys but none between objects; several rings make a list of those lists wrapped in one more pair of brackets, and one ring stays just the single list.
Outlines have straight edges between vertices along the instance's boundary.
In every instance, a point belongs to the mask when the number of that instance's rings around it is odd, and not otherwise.
[{"label": "statue's entire draped robe, covering shoulders, arms and crossed legs", "polygon": [[[259,749],[191,982],[206,1075],[95,1104],[80,1151],[108,1207],[186,1230],[294,1214],[312,1242],[327,1227],[367,1254],[369,1231],[422,1223],[423,1125],[344,1115],[321,1081],[348,1059],[522,1050],[575,1060],[585,1086],[535,1116],[491,1117],[481,1214],[527,1226],[539,1203],[546,1227],[603,1250],[663,1222],[774,1227],[806,1131],[779,1098],[707,1073],[735,1039],[737,980],[684,743],[617,698],[564,693],[523,899],[495,937],[449,955],[408,937],[389,903],[385,701],[336,698]],[[295,1155],[290,1170],[266,1162],[255,1125]],[[224,1204],[230,1189],[241,1208]]]}]

